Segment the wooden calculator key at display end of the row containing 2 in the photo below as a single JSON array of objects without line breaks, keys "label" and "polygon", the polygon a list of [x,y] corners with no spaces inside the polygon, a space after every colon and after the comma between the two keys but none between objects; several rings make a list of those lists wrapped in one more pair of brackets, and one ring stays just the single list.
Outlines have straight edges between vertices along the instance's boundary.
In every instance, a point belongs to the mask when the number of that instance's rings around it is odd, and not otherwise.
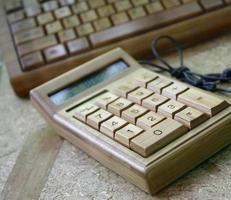
[{"label": "wooden calculator key at display end of the row containing 2", "polygon": [[107,106],[109,103],[115,101],[116,99],[118,99],[119,97],[110,93],[110,92],[107,92],[103,95],[100,95],[99,97],[96,98],[95,100],[95,104],[105,110],[107,110]]}]

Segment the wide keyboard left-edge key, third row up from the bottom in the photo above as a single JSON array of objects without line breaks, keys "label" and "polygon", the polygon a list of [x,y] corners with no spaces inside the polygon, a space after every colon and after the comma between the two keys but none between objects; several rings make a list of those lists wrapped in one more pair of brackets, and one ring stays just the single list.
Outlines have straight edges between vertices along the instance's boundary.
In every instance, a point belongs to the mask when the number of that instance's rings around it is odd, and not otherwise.
[{"label": "wide keyboard left-edge key, third row up from the bottom", "polygon": [[25,31],[20,31],[15,34],[14,38],[15,38],[16,44],[20,44],[23,42],[28,42],[30,40],[40,38],[42,36],[44,36],[43,28],[36,27],[36,28],[25,30]]}]

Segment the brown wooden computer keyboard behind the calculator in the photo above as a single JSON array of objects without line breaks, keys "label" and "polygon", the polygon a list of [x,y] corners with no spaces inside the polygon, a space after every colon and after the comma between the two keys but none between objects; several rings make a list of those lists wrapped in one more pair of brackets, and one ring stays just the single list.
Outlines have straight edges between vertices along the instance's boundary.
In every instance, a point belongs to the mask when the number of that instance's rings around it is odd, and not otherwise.
[{"label": "brown wooden computer keyboard behind the calculator", "polygon": [[[8,66],[19,96],[114,47],[150,55],[154,37],[185,45],[231,27],[230,0],[11,0],[6,13],[18,65]],[[209,23],[209,22],[213,23]],[[137,46],[139,48],[137,48]],[[167,48],[161,44],[160,48]]]}]

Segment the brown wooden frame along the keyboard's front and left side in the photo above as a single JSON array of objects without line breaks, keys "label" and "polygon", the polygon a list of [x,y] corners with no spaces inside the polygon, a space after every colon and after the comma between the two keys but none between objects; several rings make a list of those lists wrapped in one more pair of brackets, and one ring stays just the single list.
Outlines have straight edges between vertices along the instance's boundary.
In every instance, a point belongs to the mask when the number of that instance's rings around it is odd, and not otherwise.
[{"label": "brown wooden frame along the keyboard's front and left side", "polygon": [[[24,72],[21,70],[20,63],[17,59],[16,50],[14,48],[14,50],[12,50],[14,51],[14,55],[13,55],[14,60],[11,60],[10,62],[7,63],[7,70],[10,76],[10,81],[16,94],[20,97],[26,97],[28,96],[30,89],[76,67],[78,64],[82,64],[83,62],[91,58],[94,58],[99,54],[102,54],[117,46],[124,48],[126,51],[130,52],[132,56],[135,56],[137,58],[150,54],[151,41],[154,36],[156,37],[158,35],[170,34],[176,37],[177,39],[180,39],[188,46],[192,43],[199,42],[203,39],[208,39],[218,35],[218,33],[214,33],[212,31],[213,26],[210,27],[211,23],[206,23],[207,21],[211,21],[211,19],[216,18],[216,20],[212,20],[212,21],[214,26],[216,24],[217,29],[221,30],[221,32],[227,31],[228,27],[231,25],[231,22],[229,22],[228,20],[219,20],[219,19],[224,19],[229,17],[230,10],[231,10],[231,6],[227,6],[222,10],[213,11],[212,13],[208,12],[203,16],[198,16],[192,19],[184,20],[182,22],[175,23],[168,27],[159,28],[154,31],[149,31],[147,33],[143,33],[132,38],[124,39],[117,43],[115,42],[113,44],[110,44],[109,46],[93,49],[90,52],[82,53],[77,56],[72,56],[52,64],[47,64],[44,67],[28,72]],[[188,33],[188,28],[189,27],[192,28],[191,24],[194,24],[195,21],[198,24],[197,28],[193,31],[195,37],[190,38],[191,33],[190,34]],[[206,26],[204,24],[206,24]],[[7,34],[9,35],[10,34],[9,26],[7,27],[7,30],[8,31],[6,35]],[[183,33],[185,33],[185,35]],[[12,39],[8,40],[8,43],[11,44],[10,48],[14,46],[12,42],[13,42]],[[134,47],[134,44],[137,43],[139,44],[139,49],[136,46]],[[169,44],[164,44],[163,46],[161,46],[161,48],[162,49],[168,48],[168,46]],[[4,49],[8,49],[8,48],[9,46],[4,47]],[[7,52],[7,50],[5,51]],[[142,52],[143,54],[141,55],[140,52]],[[65,66],[65,68],[63,66]]]}]

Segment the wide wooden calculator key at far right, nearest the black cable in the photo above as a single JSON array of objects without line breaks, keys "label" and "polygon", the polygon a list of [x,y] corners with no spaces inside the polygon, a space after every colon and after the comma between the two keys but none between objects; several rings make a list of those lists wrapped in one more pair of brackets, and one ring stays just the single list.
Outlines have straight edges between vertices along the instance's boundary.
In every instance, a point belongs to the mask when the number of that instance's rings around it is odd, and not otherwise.
[{"label": "wide wooden calculator key at far right, nearest the black cable", "polygon": [[209,116],[213,116],[229,106],[225,100],[195,89],[189,89],[180,94],[177,100]]}]

